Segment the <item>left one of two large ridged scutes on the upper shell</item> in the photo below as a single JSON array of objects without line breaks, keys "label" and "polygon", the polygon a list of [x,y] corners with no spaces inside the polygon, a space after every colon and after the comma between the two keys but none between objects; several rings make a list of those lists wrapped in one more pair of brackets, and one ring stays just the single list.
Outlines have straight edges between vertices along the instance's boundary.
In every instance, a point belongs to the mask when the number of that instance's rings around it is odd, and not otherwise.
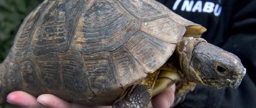
[{"label": "left one of two large ridged scutes on the upper shell", "polygon": [[77,16],[87,1],[49,1],[49,3],[51,5],[38,18],[40,23],[35,27],[31,41],[31,51],[35,55],[68,51],[74,34],[73,27],[77,24]]}]

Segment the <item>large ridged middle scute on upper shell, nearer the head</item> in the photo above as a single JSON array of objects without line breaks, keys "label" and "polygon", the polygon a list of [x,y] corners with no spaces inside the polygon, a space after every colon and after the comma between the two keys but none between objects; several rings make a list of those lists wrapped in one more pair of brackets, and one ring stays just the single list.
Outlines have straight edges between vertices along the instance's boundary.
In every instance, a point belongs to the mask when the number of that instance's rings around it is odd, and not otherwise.
[{"label": "large ridged middle scute on upper shell, nearer the head", "polygon": [[85,55],[114,51],[135,34],[139,24],[114,1],[95,1],[79,18],[71,49]]}]

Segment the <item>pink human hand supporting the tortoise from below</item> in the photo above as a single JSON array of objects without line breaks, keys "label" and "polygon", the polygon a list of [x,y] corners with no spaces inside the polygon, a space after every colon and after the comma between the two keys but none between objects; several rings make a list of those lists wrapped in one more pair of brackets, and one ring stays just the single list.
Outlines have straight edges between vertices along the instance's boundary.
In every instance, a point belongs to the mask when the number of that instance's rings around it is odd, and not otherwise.
[{"label": "pink human hand supporting the tortoise from below", "polygon": [[[173,104],[175,93],[175,85],[166,88],[162,93],[159,93],[152,98],[152,104],[148,107],[168,108]],[[89,106],[67,102],[51,94],[40,95],[34,97],[24,91],[13,91],[7,96],[7,101],[11,104],[18,105],[22,108],[109,108],[111,106]]]}]

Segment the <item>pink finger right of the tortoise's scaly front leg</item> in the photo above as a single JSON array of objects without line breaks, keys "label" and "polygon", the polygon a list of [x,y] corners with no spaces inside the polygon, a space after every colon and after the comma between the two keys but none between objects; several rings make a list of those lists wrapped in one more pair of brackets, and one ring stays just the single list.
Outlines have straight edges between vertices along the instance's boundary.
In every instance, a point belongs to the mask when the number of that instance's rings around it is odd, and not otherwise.
[{"label": "pink finger right of the tortoise's scaly front leg", "polygon": [[175,84],[152,98],[153,107],[169,108],[174,101]]}]

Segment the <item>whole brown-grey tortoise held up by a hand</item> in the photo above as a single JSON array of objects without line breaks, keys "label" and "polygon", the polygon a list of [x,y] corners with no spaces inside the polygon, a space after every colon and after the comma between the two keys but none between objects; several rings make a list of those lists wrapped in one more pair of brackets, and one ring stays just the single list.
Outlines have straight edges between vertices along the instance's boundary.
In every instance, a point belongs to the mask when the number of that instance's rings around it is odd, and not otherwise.
[{"label": "whole brown-grey tortoise held up by a hand", "polygon": [[15,90],[147,107],[177,81],[237,88],[246,69],[200,38],[205,30],[154,0],[45,0],[25,18],[1,64],[1,105]]}]

